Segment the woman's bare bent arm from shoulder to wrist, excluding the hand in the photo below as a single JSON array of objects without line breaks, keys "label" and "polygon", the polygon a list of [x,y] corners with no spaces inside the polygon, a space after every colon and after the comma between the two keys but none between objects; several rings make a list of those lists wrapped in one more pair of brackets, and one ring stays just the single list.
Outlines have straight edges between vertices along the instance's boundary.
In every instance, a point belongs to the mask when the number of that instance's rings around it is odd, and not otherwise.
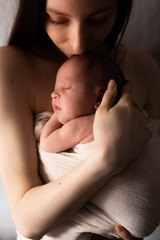
[{"label": "woman's bare bent arm from shoulder to wrist, excluding the hand", "polygon": [[91,155],[59,180],[42,184],[29,94],[5,71],[4,62],[0,62],[0,174],[17,229],[27,238],[40,239],[77,212],[112,173],[104,170],[101,156]]}]

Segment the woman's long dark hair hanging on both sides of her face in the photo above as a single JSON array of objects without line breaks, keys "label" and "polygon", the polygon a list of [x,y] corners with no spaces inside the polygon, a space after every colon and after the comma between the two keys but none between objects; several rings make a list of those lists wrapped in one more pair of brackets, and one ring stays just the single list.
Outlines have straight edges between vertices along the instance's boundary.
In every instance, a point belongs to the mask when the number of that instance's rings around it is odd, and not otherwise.
[{"label": "woman's long dark hair hanging on both sides of her face", "polygon": [[[105,40],[109,49],[113,49],[119,35],[120,42],[128,23],[133,3],[133,0],[117,1],[117,17],[110,34]],[[18,14],[8,45],[29,47],[39,42],[47,41],[50,46],[53,46],[44,29],[44,22],[47,16],[45,4],[46,0],[20,0]]]}]

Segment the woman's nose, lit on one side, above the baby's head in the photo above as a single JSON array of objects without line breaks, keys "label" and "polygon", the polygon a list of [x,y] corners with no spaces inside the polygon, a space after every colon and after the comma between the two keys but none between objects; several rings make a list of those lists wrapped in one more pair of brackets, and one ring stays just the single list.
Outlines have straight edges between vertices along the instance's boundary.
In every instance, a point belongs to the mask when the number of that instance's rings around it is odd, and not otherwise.
[{"label": "woman's nose, lit on one side, above the baby's head", "polygon": [[70,48],[74,55],[81,55],[87,49],[87,31],[84,23],[75,23],[70,34]]}]

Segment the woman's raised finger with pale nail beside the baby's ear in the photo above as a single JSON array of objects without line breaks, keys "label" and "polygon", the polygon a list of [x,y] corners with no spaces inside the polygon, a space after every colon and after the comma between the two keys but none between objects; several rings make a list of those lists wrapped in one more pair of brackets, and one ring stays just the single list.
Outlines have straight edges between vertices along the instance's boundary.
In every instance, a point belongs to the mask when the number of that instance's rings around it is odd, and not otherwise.
[{"label": "woman's raised finger with pale nail beside the baby's ear", "polygon": [[110,80],[100,106],[104,106],[109,111],[109,109],[113,106],[116,97],[117,97],[117,84],[114,80]]}]

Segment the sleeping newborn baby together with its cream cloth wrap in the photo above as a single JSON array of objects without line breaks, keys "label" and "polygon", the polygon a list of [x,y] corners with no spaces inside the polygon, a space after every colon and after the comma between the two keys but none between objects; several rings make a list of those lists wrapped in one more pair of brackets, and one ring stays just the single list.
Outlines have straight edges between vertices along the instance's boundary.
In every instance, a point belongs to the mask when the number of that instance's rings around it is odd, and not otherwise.
[{"label": "sleeping newborn baby together with its cream cloth wrap", "polygon": [[[52,94],[55,112],[41,113],[35,122],[38,140],[41,123],[50,118],[42,130],[39,147],[39,169],[44,182],[60,178],[92,151],[94,113],[110,79],[117,82],[120,92],[125,83],[121,70],[100,55],[72,57],[59,69]],[[92,233],[118,237],[115,225],[124,226],[139,238],[155,230],[160,222],[160,121],[148,120],[148,126],[152,137],[140,156],[44,240],[87,240]],[[58,131],[64,133],[64,139]]]}]

